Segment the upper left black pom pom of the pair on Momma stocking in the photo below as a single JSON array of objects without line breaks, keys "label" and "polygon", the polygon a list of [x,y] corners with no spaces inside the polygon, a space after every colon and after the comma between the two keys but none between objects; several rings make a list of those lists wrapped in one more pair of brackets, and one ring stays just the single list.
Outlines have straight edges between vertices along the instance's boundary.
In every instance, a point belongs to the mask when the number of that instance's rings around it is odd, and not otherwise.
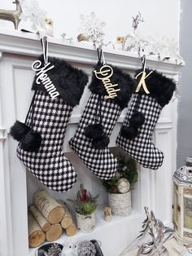
[{"label": "upper left black pom pom of the pair on Momma stocking", "polygon": [[31,128],[26,126],[23,122],[15,121],[15,124],[11,126],[10,134],[13,139],[20,141],[29,130],[31,130]]}]

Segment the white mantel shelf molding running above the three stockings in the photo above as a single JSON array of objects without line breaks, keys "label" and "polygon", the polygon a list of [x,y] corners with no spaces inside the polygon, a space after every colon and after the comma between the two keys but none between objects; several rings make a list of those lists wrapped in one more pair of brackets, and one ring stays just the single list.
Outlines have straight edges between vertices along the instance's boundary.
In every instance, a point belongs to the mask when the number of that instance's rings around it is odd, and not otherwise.
[{"label": "white mantel shelf molding running above the three stockings", "polygon": [[[70,44],[68,40],[50,37],[48,40],[50,56],[83,64],[97,62],[97,52],[88,42]],[[103,51],[110,64],[130,70],[141,68],[141,60],[137,52],[116,51],[107,47],[104,47]],[[0,29],[0,52],[29,56],[41,55],[39,36],[34,33]],[[178,65],[175,60],[159,61],[156,56],[152,55],[147,56],[146,63],[148,67],[158,69],[159,72],[168,75],[177,75],[181,66],[185,64]]]}]

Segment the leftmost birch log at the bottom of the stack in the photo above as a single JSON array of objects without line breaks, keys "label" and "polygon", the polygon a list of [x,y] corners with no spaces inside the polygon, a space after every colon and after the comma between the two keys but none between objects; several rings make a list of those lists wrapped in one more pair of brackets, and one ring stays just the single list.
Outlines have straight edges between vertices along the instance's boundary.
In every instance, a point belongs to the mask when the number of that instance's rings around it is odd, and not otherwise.
[{"label": "leftmost birch log at the bottom of the stack", "polygon": [[28,244],[30,247],[38,247],[46,241],[46,235],[41,230],[33,214],[28,211]]}]

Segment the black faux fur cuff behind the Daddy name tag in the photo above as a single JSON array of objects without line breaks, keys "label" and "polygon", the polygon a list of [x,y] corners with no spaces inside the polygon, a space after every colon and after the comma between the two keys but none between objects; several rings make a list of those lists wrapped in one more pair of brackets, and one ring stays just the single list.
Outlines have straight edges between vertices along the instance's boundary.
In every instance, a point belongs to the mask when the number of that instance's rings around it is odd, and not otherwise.
[{"label": "black faux fur cuff behind the Daddy name tag", "polygon": [[[103,64],[97,64],[94,66],[94,70],[99,71],[102,66]],[[118,84],[118,87],[116,86],[115,88],[120,89],[116,92],[117,96],[110,100],[118,104],[120,108],[126,108],[133,93],[133,78],[130,77],[128,73],[124,73],[120,68],[116,68],[111,64],[110,66],[113,68],[113,75],[110,77],[110,81],[113,85]],[[94,94],[107,95],[107,90],[104,87],[103,82],[95,77],[94,73],[89,84],[89,90]]]}]

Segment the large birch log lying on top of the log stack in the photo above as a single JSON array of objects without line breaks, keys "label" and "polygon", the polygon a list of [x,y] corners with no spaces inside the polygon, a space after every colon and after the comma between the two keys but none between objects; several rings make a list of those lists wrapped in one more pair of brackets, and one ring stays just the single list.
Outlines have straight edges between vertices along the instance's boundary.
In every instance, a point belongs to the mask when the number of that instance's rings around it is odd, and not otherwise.
[{"label": "large birch log lying on top of the log stack", "polygon": [[64,208],[46,190],[34,194],[34,204],[51,224],[59,223],[65,214]]}]

